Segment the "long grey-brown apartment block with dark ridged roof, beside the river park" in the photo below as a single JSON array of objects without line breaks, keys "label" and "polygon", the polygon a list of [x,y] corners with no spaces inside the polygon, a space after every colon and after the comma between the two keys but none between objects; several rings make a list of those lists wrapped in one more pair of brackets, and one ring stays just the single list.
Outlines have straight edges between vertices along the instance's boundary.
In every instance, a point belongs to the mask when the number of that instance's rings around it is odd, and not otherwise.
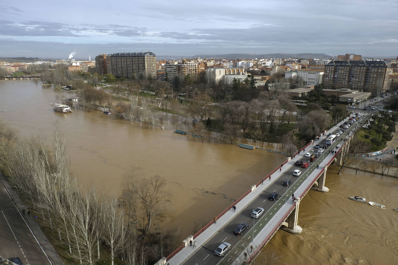
[{"label": "long grey-brown apartment block with dark ridged roof, beside the river park", "polygon": [[[110,58],[110,60],[109,60]],[[116,77],[156,78],[156,55],[153,52],[118,52],[107,56],[107,72]]]}]

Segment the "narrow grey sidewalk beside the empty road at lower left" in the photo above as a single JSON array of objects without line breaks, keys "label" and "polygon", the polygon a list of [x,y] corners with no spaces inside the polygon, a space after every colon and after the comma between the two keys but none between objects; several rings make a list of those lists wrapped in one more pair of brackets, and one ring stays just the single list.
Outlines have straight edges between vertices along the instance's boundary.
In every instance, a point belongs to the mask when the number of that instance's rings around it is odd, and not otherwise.
[{"label": "narrow grey sidewalk beside the empty road at lower left", "polygon": [[[8,184],[8,181],[6,180],[6,177],[2,174],[2,172],[0,172],[0,180],[3,182],[4,186],[6,186],[6,189],[16,203],[18,210],[21,211],[22,209],[27,209],[27,211],[29,211],[29,208],[26,207],[26,205],[20,200],[20,197],[16,194],[14,189],[10,186],[10,184]],[[31,217],[23,216],[23,218],[27,222],[28,227],[33,232],[37,241],[39,241],[41,248],[44,249],[43,252],[45,252],[45,254],[47,254],[49,259],[51,260],[52,263],[50,264],[63,265],[64,263],[62,262],[58,253],[54,250],[53,246],[47,240],[47,237],[45,236],[41,228],[37,225],[37,222],[34,220],[34,216],[35,213],[31,213]]]}]

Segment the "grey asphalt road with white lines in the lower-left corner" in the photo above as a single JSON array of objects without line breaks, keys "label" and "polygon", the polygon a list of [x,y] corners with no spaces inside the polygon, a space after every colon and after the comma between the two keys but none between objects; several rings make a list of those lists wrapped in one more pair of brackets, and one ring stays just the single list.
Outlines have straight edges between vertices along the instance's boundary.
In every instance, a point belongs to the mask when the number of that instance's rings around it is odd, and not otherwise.
[{"label": "grey asphalt road with white lines in the lower-left corner", "polygon": [[[25,218],[27,217],[27,213]],[[23,214],[12,203],[0,184],[0,255],[20,257],[23,264],[50,264],[29,230]]]}]

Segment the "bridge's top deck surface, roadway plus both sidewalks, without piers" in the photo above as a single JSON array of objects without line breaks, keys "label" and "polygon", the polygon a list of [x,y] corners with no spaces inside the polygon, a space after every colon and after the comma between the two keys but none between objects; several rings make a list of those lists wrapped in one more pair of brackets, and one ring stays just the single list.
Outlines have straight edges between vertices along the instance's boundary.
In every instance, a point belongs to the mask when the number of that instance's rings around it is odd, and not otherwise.
[{"label": "bridge's top deck surface, roadway plus both sidewalks, without piers", "polygon": [[[338,130],[340,130],[340,128],[335,126],[328,132],[337,132]],[[338,138],[338,141],[336,141],[326,150],[337,150],[335,149],[337,145],[341,147],[340,141],[346,137],[351,130],[352,128],[343,133],[343,135]],[[316,144],[324,143],[327,137],[328,136],[325,134],[325,136],[322,136],[320,140],[315,141],[312,145],[309,145],[307,147],[307,151],[311,152],[311,150],[314,150],[313,152],[316,153],[317,149],[314,149],[314,146]],[[308,189],[312,186],[312,183],[318,178],[318,175],[323,172],[323,166],[330,162],[330,159],[334,157],[334,155],[328,154],[326,150],[321,157],[319,157],[309,168],[307,168],[307,170],[304,171],[303,168],[298,167],[300,170],[303,170],[300,177],[294,177],[291,174],[293,170],[297,169],[297,166],[294,165],[295,161],[292,160],[287,162],[283,166],[283,171],[280,172],[278,170],[271,175],[271,181],[264,180],[263,185],[260,184],[256,189],[248,193],[246,197],[239,201],[236,204],[236,212],[233,212],[231,209],[222,217],[220,217],[220,219],[217,220],[217,223],[212,224],[209,226],[209,228],[197,236],[194,239],[197,245],[196,248],[190,247],[188,245],[185,248],[182,248],[167,262],[169,262],[170,265],[195,263],[231,264],[233,260],[243,261],[244,252],[248,253],[248,258],[250,258],[251,254],[254,254],[258,251],[257,248],[264,241],[264,238],[271,238],[273,233],[276,232],[277,228],[279,228],[281,224],[281,219],[283,218],[283,220],[285,220],[291,210],[293,210],[294,205],[293,200],[291,199],[291,194],[296,193],[296,197],[303,196],[306,193],[306,191],[305,193],[303,191],[306,189],[308,191]],[[301,152],[300,154],[304,155],[305,152]],[[308,157],[297,156],[296,159],[303,159],[305,161],[305,159],[308,159]],[[317,164],[319,164],[318,169],[316,168]],[[286,187],[281,185],[283,180],[286,178],[292,180],[292,183],[287,191]],[[278,200],[270,201],[268,196],[271,192],[278,192],[282,195]],[[259,219],[254,219],[250,216],[253,209],[256,207],[263,207],[265,211],[265,213],[263,213]],[[244,232],[243,236],[235,236],[232,231],[240,222],[248,223],[249,229]],[[253,224],[254,230],[252,228]],[[269,234],[271,231],[274,232]],[[253,234],[254,240],[252,241]],[[218,257],[214,254],[215,249],[222,242],[228,242],[232,244],[232,249],[226,253],[224,258]],[[251,251],[250,246],[253,246],[253,251]]]}]

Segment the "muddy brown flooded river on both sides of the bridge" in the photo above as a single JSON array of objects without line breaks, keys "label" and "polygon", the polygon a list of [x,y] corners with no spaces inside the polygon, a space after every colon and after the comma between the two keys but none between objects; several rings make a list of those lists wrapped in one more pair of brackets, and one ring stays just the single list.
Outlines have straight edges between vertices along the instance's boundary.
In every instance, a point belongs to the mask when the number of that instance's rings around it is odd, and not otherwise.
[{"label": "muddy brown flooded river on both sides of the bridge", "polygon": [[[0,118],[21,135],[52,141],[58,121],[66,140],[71,173],[84,186],[119,191],[123,174],[162,176],[173,207],[160,226],[181,238],[195,223],[207,223],[286,157],[227,143],[202,143],[172,130],[142,129],[100,111],[54,112],[50,103],[73,93],[34,81],[0,80]],[[172,127],[171,124],[168,124]],[[259,143],[257,143],[259,144]],[[277,150],[278,145],[262,144]],[[330,167],[328,193],[309,191],[300,204],[300,235],[278,231],[267,245],[281,264],[397,264],[398,182],[394,178]],[[366,197],[386,205],[377,209],[347,199]],[[200,225],[199,225],[200,226]],[[179,245],[181,241],[177,242]]]}]

